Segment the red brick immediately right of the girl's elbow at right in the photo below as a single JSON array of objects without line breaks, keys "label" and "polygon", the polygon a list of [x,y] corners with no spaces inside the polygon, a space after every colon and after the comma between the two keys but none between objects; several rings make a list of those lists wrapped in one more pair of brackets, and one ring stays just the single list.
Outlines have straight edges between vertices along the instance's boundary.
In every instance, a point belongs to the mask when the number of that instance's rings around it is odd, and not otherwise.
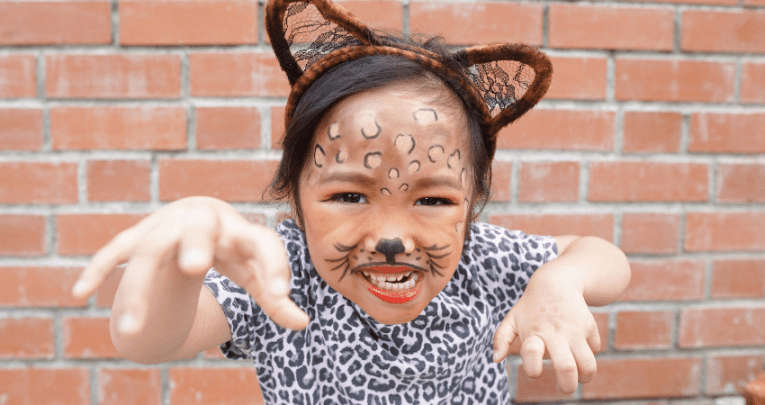
[{"label": "red brick immediately right of the girl's elbow at right", "polygon": [[704,298],[703,260],[631,261],[632,279],[620,301],[691,301]]}]

